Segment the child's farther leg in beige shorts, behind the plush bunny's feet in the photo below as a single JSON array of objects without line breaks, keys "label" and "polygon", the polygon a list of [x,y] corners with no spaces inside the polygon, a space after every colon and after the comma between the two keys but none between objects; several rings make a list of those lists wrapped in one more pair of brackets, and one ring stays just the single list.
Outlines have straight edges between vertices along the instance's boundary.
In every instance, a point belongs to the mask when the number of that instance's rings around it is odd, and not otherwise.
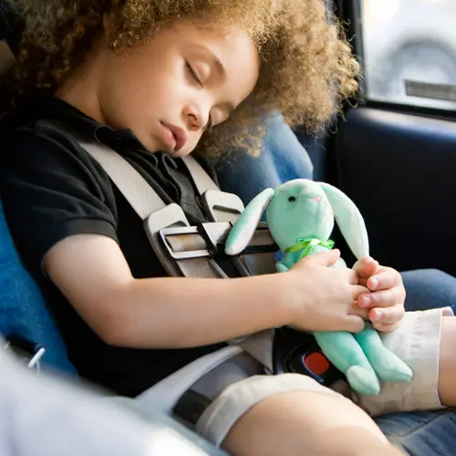
[{"label": "child's farther leg in beige shorts, behind the plush bunny's feet", "polygon": [[413,378],[409,383],[383,383],[378,396],[352,392],[358,405],[371,416],[456,406],[456,318],[451,307],[407,312],[399,327],[381,338],[409,365]]}]

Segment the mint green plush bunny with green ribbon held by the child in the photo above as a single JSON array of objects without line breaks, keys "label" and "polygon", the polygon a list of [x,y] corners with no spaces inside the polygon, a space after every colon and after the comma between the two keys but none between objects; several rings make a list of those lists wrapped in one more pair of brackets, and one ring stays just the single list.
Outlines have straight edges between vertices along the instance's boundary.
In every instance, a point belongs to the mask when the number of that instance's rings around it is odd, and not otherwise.
[{"label": "mint green plush bunny with green ribbon held by the child", "polygon": [[[307,254],[333,247],[329,235],[334,219],[353,254],[368,256],[368,233],[357,206],[344,192],[325,182],[306,179],[285,182],[276,190],[266,189],[250,202],[234,223],[225,252],[242,253],[249,244],[261,216],[284,258],[276,264],[285,272]],[[333,267],[347,267],[341,258]],[[384,347],[378,332],[366,322],[359,334],[345,331],[314,333],[326,357],[347,377],[350,386],[366,395],[377,395],[379,381],[408,382],[411,369]]]}]

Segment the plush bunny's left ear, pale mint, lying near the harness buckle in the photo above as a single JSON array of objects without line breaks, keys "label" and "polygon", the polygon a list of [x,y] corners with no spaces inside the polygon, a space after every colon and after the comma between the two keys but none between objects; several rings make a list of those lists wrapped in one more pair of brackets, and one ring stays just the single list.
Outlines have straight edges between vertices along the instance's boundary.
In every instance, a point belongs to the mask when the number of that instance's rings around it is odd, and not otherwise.
[{"label": "plush bunny's left ear, pale mint, lying near the harness buckle", "polygon": [[261,216],[273,199],[274,194],[274,189],[265,189],[247,204],[244,212],[233,224],[233,228],[228,234],[225,243],[225,254],[240,254],[250,243]]}]

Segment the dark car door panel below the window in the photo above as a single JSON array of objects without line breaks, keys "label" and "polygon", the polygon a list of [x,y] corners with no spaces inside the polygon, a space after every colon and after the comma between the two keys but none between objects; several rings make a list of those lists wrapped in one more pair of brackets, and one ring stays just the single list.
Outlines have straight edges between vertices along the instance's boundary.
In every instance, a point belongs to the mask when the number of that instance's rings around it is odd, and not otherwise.
[{"label": "dark car door panel below the window", "polygon": [[456,275],[456,123],[358,108],[339,124],[336,184],[363,214],[371,254]]}]

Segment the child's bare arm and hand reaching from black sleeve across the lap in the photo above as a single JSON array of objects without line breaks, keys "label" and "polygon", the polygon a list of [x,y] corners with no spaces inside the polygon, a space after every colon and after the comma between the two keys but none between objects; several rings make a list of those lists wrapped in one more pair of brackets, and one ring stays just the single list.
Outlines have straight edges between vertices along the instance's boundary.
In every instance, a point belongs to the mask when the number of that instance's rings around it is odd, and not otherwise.
[{"label": "child's bare arm and hand reaching from black sleeve across the lap", "polygon": [[196,347],[283,325],[359,331],[350,315],[366,289],[356,273],[312,255],[285,274],[239,279],[135,279],[111,238],[78,234],[56,244],[44,266],[98,336],[121,347]]}]

